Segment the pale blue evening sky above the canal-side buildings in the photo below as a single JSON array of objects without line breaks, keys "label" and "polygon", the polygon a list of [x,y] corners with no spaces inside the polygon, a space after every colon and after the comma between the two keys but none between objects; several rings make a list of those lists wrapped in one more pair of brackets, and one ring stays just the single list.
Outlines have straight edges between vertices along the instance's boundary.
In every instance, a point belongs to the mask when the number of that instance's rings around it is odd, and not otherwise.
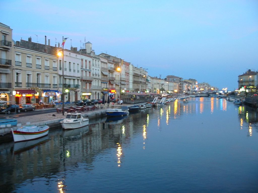
[{"label": "pale blue evening sky above the canal-side buildings", "polygon": [[219,89],[258,71],[257,0],[2,0],[0,22],[13,40],[65,49],[92,43],[102,52],[148,68],[148,75],[194,78]]}]

